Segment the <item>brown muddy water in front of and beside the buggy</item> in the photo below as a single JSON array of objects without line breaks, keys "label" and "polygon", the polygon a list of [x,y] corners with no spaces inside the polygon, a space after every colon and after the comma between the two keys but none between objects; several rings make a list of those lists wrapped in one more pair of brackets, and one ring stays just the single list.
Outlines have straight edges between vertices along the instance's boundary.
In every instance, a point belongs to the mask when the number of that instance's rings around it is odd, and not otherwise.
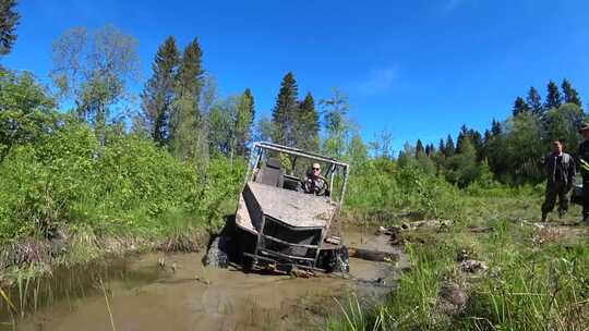
[{"label": "brown muddy water in front of and beside the buggy", "polygon": [[[386,236],[349,233],[350,245],[397,253]],[[124,277],[95,282],[95,291],[87,291],[92,294],[57,301],[19,321],[15,329],[316,329],[327,314],[340,309],[335,297],[353,291],[370,301],[390,291],[396,269],[352,258],[349,279],[302,279],[206,268],[202,257],[202,253],[135,256]]]}]

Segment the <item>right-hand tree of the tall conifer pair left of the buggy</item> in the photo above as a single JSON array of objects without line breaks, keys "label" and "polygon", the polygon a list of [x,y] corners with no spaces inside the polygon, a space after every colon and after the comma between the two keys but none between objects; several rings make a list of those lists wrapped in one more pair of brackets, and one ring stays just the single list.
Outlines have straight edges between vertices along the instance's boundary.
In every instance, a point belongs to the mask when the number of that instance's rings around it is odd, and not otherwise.
[{"label": "right-hand tree of the tall conifer pair left of the buggy", "polygon": [[178,69],[170,120],[170,147],[172,154],[181,160],[202,160],[205,147],[208,146],[199,109],[204,85],[202,56],[199,40],[194,39],[184,48]]}]

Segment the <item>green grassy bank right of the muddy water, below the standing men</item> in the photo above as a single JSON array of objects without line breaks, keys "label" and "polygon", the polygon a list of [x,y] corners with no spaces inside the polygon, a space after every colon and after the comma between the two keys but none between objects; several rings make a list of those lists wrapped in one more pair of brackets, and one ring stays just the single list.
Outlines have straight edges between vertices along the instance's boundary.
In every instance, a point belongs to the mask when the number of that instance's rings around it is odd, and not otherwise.
[{"label": "green grassy bank right of the muddy water, below the standing men", "polygon": [[[324,329],[589,329],[589,229],[537,226],[542,198],[529,191],[508,196],[465,194],[460,220],[448,232],[404,233],[412,267],[396,290],[372,307],[351,297]],[[558,223],[574,223],[579,214],[575,206]],[[470,231],[478,226],[489,231]],[[462,250],[489,270],[462,272],[456,260]],[[448,310],[448,283],[467,294],[464,308]]]}]

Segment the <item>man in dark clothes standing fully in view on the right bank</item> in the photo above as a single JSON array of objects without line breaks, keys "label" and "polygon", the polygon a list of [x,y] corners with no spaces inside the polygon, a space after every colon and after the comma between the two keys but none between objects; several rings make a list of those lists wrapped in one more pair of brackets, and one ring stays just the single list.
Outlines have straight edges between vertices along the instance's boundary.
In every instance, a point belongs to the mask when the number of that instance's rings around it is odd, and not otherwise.
[{"label": "man in dark clothes standing fully in view on the right bank", "polygon": [[563,152],[563,144],[554,140],[552,152],[543,159],[543,164],[548,173],[546,196],[542,204],[542,222],[545,222],[548,213],[554,209],[556,197],[558,217],[563,217],[568,210],[568,192],[575,177],[575,161],[570,155]]}]

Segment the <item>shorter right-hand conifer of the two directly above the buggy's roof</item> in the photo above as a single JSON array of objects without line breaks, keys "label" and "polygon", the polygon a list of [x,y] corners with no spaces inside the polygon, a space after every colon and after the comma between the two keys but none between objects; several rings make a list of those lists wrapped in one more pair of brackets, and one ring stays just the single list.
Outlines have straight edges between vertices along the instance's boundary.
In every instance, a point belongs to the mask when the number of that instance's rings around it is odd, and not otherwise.
[{"label": "shorter right-hand conifer of the two directly above the buggy's roof", "polygon": [[297,147],[318,151],[320,118],[315,110],[315,99],[311,93],[299,102],[297,113]]}]

